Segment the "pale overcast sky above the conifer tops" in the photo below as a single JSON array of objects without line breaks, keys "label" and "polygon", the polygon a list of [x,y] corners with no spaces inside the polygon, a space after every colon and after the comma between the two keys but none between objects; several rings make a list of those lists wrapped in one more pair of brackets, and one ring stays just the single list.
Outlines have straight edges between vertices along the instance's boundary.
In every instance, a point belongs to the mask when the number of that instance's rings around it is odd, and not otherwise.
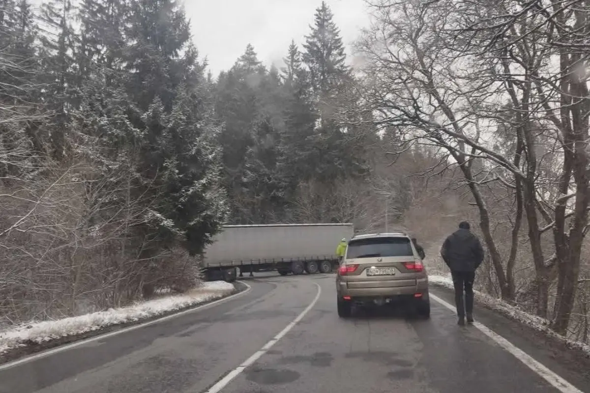
[{"label": "pale overcast sky above the conifer tops", "polygon": [[[326,0],[348,46],[369,18],[363,0]],[[322,0],[185,0],[193,41],[214,75],[234,65],[247,44],[266,65],[281,59],[294,39],[303,42]]]}]

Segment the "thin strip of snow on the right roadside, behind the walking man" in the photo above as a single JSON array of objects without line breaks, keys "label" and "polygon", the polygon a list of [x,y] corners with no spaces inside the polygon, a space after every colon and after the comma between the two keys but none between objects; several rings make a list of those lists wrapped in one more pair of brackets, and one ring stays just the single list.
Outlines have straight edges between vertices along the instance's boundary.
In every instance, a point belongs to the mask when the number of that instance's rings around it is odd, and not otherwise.
[{"label": "thin strip of snow on the right roadside, behind the walking man", "polygon": [[[442,286],[444,288],[453,289],[453,280],[450,276],[428,275],[428,282],[434,285]],[[572,341],[561,335],[558,335],[549,328],[548,320],[539,318],[535,315],[530,315],[529,313],[526,313],[513,305],[509,305],[508,303],[503,302],[500,299],[496,299],[490,295],[486,295],[486,293],[481,293],[477,290],[474,292],[476,300],[480,303],[483,303],[488,308],[500,312],[503,315],[509,317],[510,319],[514,319],[516,321],[519,321],[520,323],[524,323],[525,325],[530,326],[531,328],[537,331],[550,335],[558,339],[559,341],[562,341],[570,348],[581,349],[590,356],[590,345],[578,341]]]}]

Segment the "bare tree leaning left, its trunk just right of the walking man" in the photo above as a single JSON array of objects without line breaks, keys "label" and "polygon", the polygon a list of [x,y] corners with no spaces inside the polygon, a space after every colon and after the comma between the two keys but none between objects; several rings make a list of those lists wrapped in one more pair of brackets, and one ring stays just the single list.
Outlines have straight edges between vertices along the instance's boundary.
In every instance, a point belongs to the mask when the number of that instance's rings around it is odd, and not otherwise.
[{"label": "bare tree leaning left, its trunk just right of the walking man", "polygon": [[[474,158],[493,154],[481,145],[481,121],[470,113],[476,105],[471,95],[489,90],[490,82],[471,80],[466,85],[458,81],[461,59],[446,47],[438,32],[440,21],[445,20],[444,9],[430,9],[419,1],[396,4],[386,0],[373,7],[375,24],[358,44],[366,59],[365,110],[373,114],[378,126],[401,130],[406,146],[416,141],[438,146],[458,164],[480,213],[481,232],[502,297],[510,299],[513,290],[491,236],[489,209],[480,190],[481,181],[490,181],[494,168],[478,179],[473,167]],[[507,161],[495,157],[493,162]]]}]

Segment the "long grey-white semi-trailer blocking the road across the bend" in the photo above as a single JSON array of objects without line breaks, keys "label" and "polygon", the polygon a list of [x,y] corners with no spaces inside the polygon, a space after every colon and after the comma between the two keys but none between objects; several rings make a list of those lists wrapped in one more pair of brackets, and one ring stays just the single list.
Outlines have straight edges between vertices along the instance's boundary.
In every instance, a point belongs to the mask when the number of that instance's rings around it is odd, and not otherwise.
[{"label": "long grey-white semi-trailer blocking the road across the bend", "polygon": [[232,281],[243,273],[329,273],[336,246],[354,235],[352,224],[226,225],[203,253],[205,279]]}]

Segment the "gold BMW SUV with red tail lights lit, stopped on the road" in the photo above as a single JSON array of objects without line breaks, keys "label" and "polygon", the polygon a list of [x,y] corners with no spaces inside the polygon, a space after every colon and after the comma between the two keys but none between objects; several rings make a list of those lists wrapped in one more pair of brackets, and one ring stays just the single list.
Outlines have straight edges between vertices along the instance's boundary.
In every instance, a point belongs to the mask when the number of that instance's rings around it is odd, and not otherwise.
[{"label": "gold BMW SUV with red tail lights lit, stopped on the road", "polygon": [[355,236],[336,276],[338,315],[352,305],[383,305],[405,300],[430,318],[428,275],[411,238],[402,232]]}]

